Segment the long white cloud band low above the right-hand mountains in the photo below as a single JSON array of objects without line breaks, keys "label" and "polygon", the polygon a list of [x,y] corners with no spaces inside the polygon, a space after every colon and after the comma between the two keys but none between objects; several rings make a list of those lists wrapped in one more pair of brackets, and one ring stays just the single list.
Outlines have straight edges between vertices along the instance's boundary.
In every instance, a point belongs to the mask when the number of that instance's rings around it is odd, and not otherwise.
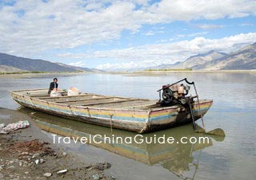
[{"label": "long white cloud band low above the right-hand mountains", "polygon": [[173,43],[142,45],[129,49],[112,49],[110,51],[98,51],[90,55],[96,58],[108,58],[119,60],[120,63],[98,65],[97,68],[146,68],[154,65],[173,64],[176,61],[185,61],[186,58],[206,53],[210,50],[230,53],[244,45],[256,41],[256,33],[240,33],[221,39],[206,39],[195,37],[191,41],[178,41]]}]

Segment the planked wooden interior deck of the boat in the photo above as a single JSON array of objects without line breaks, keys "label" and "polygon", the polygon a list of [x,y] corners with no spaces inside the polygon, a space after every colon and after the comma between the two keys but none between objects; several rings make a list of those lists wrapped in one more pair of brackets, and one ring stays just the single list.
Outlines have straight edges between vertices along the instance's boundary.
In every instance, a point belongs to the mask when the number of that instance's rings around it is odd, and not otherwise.
[{"label": "planked wooden interior deck of the boat", "polygon": [[46,100],[58,104],[76,105],[76,106],[90,106],[97,108],[160,108],[156,102],[158,100],[147,100],[138,98],[126,98],[118,96],[102,96],[91,93],[82,93],[78,96],[67,96],[66,91],[60,91],[62,96],[50,97],[48,95],[48,89],[37,90],[24,90],[14,91],[23,96],[30,96],[39,100]]}]

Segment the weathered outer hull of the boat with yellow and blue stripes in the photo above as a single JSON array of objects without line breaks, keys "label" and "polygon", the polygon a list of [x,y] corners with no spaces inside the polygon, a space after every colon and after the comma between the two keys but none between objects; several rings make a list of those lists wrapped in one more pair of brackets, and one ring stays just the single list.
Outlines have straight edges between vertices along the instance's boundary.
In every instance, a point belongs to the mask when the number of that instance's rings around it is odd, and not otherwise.
[{"label": "weathered outer hull of the boat with yellow and blue stripes", "polygon": [[[36,92],[36,90],[34,91]],[[191,122],[187,110],[180,106],[165,108],[98,108],[41,100],[38,97],[26,95],[24,90],[10,92],[10,95],[23,107],[39,112],[138,133],[158,131]],[[203,100],[199,103],[200,110],[198,106],[194,105],[195,119],[200,118],[200,112],[204,115],[212,102],[212,100]]]}]

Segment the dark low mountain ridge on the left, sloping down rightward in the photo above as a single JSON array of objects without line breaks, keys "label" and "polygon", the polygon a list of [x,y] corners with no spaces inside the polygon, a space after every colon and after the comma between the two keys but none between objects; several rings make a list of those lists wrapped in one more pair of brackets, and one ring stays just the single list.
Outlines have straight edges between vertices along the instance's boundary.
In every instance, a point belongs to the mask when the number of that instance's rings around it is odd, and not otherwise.
[{"label": "dark low mountain ridge on the left, sloping down rightward", "polygon": [[[0,53],[0,72],[97,72],[98,69],[81,68],[50,61],[15,57],[6,53]],[[98,70],[99,71],[99,70]]]}]

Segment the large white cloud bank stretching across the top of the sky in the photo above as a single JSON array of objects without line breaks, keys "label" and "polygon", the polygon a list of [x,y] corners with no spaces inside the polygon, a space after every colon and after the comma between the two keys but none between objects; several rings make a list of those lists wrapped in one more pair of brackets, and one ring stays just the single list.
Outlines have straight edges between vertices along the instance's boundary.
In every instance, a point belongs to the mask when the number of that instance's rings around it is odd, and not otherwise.
[{"label": "large white cloud bank stretching across the top of the sky", "polygon": [[143,24],[249,14],[256,14],[254,0],[22,0],[0,9],[0,52],[30,57],[118,39],[123,30],[138,32]]}]

